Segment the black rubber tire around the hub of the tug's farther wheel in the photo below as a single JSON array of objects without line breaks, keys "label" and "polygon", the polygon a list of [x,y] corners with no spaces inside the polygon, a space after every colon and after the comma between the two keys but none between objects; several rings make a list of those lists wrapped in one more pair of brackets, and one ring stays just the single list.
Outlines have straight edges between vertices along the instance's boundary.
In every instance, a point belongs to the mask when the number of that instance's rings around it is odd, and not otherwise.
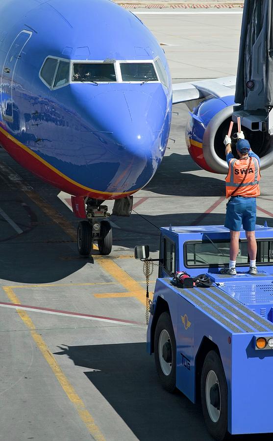
[{"label": "black rubber tire around the hub of the tug's farther wheel", "polygon": [[[166,330],[170,336],[170,343],[171,343],[171,349],[172,349],[172,368],[169,375],[166,375],[160,364],[160,357],[159,357],[159,338],[161,335],[161,332],[163,330]],[[161,385],[164,389],[168,392],[174,392],[176,389],[176,381],[175,381],[175,375],[176,375],[176,343],[175,343],[175,337],[174,337],[174,329],[172,324],[172,319],[170,317],[170,314],[168,312],[164,312],[159,317],[155,333],[154,333],[154,361],[155,361],[155,367],[157,374],[159,376],[159,380]]]}]

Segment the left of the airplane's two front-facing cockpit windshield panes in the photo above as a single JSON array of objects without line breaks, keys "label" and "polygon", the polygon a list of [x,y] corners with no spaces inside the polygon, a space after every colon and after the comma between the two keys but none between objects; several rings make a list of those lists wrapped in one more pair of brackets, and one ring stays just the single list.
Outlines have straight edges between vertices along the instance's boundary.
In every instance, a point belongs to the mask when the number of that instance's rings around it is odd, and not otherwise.
[{"label": "left of the airplane's two front-facing cockpit windshield panes", "polygon": [[113,63],[74,63],[73,81],[117,81]]}]

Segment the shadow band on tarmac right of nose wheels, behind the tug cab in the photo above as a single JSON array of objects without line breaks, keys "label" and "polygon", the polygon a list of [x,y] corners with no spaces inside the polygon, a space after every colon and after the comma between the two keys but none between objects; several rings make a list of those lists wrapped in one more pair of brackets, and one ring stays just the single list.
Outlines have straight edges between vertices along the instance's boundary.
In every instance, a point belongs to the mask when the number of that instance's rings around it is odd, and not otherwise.
[{"label": "shadow band on tarmac right of nose wheels, behind the tug cab", "polygon": [[[150,251],[159,251],[159,237],[161,226],[169,227],[183,225],[223,225],[225,213],[183,213],[183,207],[177,207],[181,213],[163,214],[158,216],[132,214],[129,219],[124,221],[122,218],[117,222],[122,227],[114,229],[114,245],[134,248],[136,245],[149,245]],[[197,207],[197,210],[199,207]],[[224,209],[224,205],[223,205]],[[136,208],[137,210],[137,208]],[[273,226],[273,219],[257,217],[256,223],[264,225],[267,221],[268,226]]]}]

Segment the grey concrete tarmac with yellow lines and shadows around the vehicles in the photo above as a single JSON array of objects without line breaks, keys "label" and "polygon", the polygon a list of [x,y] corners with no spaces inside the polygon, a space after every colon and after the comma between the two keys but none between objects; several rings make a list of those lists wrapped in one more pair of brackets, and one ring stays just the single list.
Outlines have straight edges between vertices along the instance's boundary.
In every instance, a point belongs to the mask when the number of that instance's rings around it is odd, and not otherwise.
[{"label": "grey concrete tarmac with yellow lines and shadows around the vehicles", "polygon": [[[241,13],[154,12],[139,17],[165,45],[174,81],[236,73]],[[212,440],[199,405],[159,385],[146,354],[145,277],[133,259],[143,244],[158,256],[160,226],[224,222],[224,177],[192,161],[188,109],[173,110],[163,163],[131,217],[111,218],[106,257],[78,257],[66,196],[0,149],[0,440]],[[257,223],[273,226],[271,173],[262,175]],[[155,279],[156,267],[151,292]],[[234,438],[246,439],[269,438]]]}]

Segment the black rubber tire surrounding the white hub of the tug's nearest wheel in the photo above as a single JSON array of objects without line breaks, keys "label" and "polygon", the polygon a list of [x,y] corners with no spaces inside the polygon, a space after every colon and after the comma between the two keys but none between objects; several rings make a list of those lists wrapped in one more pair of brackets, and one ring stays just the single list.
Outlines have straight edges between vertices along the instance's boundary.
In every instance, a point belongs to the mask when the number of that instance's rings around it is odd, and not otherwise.
[{"label": "black rubber tire surrounding the white hub of the tug's nearest wheel", "polygon": [[[206,402],[206,379],[211,370],[217,376],[220,392],[220,416],[217,422],[214,422],[210,417]],[[218,441],[229,438],[227,432],[227,384],[222,361],[215,351],[208,352],[204,360],[201,373],[201,404],[204,420],[211,436]]]}]

